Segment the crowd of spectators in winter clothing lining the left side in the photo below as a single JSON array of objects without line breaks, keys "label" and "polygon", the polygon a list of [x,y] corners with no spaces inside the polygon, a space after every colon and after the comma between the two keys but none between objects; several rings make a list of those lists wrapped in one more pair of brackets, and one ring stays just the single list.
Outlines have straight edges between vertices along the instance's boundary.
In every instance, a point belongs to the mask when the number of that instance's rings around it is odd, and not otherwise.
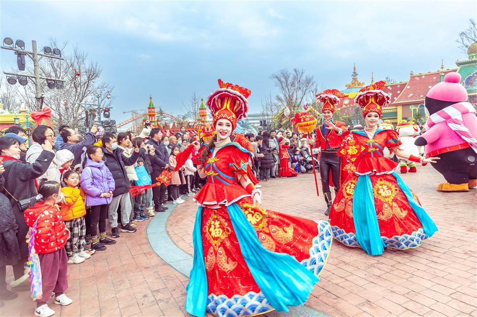
[{"label": "crowd of spectators in winter clothing lining the left side", "polygon": [[[120,232],[136,232],[136,223],[164,212],[167,200],[181,204],[183,194],[193,195],[203,183],[197,173],[198,147],[174,170],[176,155],[191,142],[185,129],[164,135],[148,124],[137,137],[97,132],[93,126],[80,136],[63,125],[56,136],[53,128],[41,125],[31,132],[29,147],[19,127],[0,137],[1,296],[13,299],[14,290],[31,287],[37,316],[55,313],[47,305],[52,293],[56,304],[72,302],[64,294],[69,264],[106,250]],[[163,171],[173,175],[169,188],[130,194],[132,186],[155,183]],[[7,265],[13,268],[12,290],[7,289]],[[30,285],[30,276],[41,284]]]}]

